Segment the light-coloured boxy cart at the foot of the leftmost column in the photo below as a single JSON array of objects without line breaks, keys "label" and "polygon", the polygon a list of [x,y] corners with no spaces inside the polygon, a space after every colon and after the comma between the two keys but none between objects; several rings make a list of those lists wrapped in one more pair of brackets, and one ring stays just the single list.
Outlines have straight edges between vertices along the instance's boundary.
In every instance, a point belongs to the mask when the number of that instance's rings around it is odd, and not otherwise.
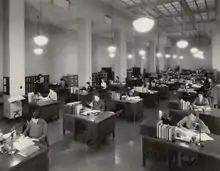
[{"label": "light-coloured boxy cart at the foot of the leftmost column", "polygon": [[14,119],[22,116],[23,96],[4,96],[4,117]]}]

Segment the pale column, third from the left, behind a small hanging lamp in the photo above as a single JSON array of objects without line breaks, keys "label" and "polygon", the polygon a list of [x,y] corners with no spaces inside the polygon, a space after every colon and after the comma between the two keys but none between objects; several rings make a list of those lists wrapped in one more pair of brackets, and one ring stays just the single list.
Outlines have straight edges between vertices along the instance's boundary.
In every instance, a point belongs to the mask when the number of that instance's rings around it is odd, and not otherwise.
[{"label": "pale column, third from the left, behind a small hanging lamp", "polygon": [[115,42],[117,53],[115,57],[115,76],[119,76],[120,81],[125,81],[127,77],[127,38],[126,32],[116,32]]}]

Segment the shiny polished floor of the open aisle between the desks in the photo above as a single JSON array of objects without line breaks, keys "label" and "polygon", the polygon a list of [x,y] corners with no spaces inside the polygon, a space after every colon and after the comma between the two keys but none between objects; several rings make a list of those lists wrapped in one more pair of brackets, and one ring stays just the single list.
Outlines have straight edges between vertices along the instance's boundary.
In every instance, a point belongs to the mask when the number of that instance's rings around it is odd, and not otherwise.
[{"label": "shiny polished floor of the open aisle between the desks", "polygon": [[[171,93],[170,99],[175,98]],[[159,109],[168,110],[168,100],[161,100],[157,109],[144,109],[143,119],[157,117]],[[0,119],[0,128],[7,132],[18,122]],[[117,118],[115,140],[109,137],[100,148],[76,142],[70,133],[63,136],[62,119],[50,123],[50,171],[167,171],[164,163],[148,162],[146,168],[142,167],[140,122]]]}]

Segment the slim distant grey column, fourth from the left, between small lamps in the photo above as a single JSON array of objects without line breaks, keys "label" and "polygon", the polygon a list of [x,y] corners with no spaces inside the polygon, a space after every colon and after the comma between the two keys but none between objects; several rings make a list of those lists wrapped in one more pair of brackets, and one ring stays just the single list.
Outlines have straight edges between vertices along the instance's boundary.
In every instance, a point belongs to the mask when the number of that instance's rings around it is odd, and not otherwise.
[{"label": "slim distant grey column, fourth from the left, between small lamps", "polygon": [[148,47],[148,68],[149,72],[156,73],[156,43],[155,41],[151,41]]}]

